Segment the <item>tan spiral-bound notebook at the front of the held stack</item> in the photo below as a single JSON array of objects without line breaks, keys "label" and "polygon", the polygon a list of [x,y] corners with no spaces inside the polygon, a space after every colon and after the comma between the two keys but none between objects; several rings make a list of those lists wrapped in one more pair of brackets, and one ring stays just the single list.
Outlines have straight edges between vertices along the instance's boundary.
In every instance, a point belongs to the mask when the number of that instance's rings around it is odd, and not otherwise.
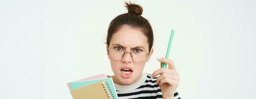
[{"label": "tan spiral-bound notebook at the front of the held stack", "polygon": [[105,81],[70,91],[73,99],[113,99]]}]

